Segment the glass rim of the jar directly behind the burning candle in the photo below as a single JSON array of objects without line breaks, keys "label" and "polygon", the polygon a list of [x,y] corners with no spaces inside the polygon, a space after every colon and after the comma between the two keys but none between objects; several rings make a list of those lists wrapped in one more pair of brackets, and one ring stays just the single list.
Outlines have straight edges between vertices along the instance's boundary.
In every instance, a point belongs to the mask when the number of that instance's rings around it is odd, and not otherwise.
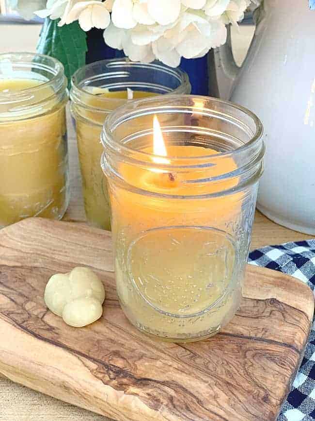
[{"label": "glass rim of the jar directly behind the burning candle", "polygon": [[[84,95],[87,99],[87,101],[82,101],[82,103],[84,103],[85,105],[88,105],[89,108],[91,108],[91,110],[98,110],[98,111],[111,111],[111,110],[106,110],[105,108],[101,108],[101,107],[97,107],[97,106],[93,106],[90,104],[90,100],[95,98],[95,95],[82,89],[81,87],[81,83],[84,82],[85,79],[79,79],[79,74],[80,72],[89,70],[89,69],[93,69],[94,67],[97,67],[101,64],[104,65],[108,65],[108,64],[121,64],[123,66],[128,66],[128,67],[142,67],[142,68],[149,68],[149,69],[157,69],[157,70],[162,70],[164,72],[169,72],[172,73],[174,75],[174,77],[176,77],[181,84],[175,88],[174,90],[172,90],[171,95],[176,94],[183,94],[183,92],[186,92],[187,90],[187,86],[190,87],[190,82],[189,82],[189,76],[188,74],[182,70],[180,67],[177,68],[173,68],[173,67],[169,67],[166,66],[160,62],[154,61],[152,63],[141,63],[141,62],[134,62],[131,61],[130,59],[128,59],[128,57],[121,57],[121,58],[112,58],[112,59],[105,59],[105,60],[98,60],[95,61],[93,63],[90,63],[88,65],[82,66],[80,67],[71,77],[71,91],[70,91],[70,98],[72,101],[76,101],[78,98],[78,94],[80,95]],[[141,84],[141,83],[139,83]],[[169,95],[169,94],[167,94]],[[97,100],[99,101],[99,103],[104,103],[106,104],[106,102],[110,101],[110,103],[114,103],[117,104],[117,107],[119,106],[119,104],[124,104],[125,102],[130,102],[130,101],[135,101],[134,99],[121,99],[121,98],[107,98],[107,97],[97,97]]]}]

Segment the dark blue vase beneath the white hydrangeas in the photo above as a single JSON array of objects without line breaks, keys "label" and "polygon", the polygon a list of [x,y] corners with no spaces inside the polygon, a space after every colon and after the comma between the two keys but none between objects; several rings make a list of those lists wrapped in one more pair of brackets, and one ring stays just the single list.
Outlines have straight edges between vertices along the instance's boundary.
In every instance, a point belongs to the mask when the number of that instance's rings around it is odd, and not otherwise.
[{"label": "dark blue vase beneath the white hydrangeas", "polygon": [[[98,60],[125,56],[123,51],[115,50],[104,43],[103,31],[99,29],[94,28],[87,33],[87,45],[86,64]],[[182,58],[180,67],[185,70],[189,76],[192,94],[213,95],[212,92],[209,92],[208,63],[208,54],[204,57],[189,60]]]}]

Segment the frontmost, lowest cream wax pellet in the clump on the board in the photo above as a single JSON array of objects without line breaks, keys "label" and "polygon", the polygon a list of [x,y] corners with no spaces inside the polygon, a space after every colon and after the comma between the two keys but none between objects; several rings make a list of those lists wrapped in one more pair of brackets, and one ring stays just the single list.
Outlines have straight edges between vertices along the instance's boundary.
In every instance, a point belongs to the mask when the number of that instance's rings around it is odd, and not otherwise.
[{"label": "frontmost, lowest cream wax pellet in the clump on the board", "polygon": [[103,313],[101,303],[94,297],[81,297],[63,308],[63,321],[73,327],[83,327],[99,319]]}]

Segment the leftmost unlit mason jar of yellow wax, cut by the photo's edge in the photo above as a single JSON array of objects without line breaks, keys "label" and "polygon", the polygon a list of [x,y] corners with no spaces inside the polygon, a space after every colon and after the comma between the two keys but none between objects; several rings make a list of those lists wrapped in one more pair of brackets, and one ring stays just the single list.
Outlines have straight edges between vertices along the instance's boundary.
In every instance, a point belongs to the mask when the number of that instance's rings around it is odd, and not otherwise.
[{"label": "leftmost unlit mason jar of yellow wax, cut by the photo's edge", "polygon": [[0,54],[0,227],[61,219],[69,201],[63,65],[46,55]]}]

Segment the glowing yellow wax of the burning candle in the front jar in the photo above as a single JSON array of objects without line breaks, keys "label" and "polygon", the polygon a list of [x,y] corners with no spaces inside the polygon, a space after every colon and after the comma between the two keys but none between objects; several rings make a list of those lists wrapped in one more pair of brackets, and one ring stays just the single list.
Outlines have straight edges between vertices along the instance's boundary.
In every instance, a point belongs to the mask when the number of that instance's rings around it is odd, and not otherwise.
[{"label": "glowing yellow wax of the burning candle in the front jar", "polygon": [[236,311],[236,251],[223,231],[238,218],[241,194],[207,195],[232,189],[238,178],[206,181],[235,170],[235,161],[221,157],[220,166],[197,172],[159,168],[169,156],[188,167],[195,157],[218,153],[200,146],[168,146],[165,158],[154,158],[157,168],[152,170],[121,164],[129,187],[151,195],[110,185],[117,291],[128,318],[146,332],[169,338],[207,336]]}]

